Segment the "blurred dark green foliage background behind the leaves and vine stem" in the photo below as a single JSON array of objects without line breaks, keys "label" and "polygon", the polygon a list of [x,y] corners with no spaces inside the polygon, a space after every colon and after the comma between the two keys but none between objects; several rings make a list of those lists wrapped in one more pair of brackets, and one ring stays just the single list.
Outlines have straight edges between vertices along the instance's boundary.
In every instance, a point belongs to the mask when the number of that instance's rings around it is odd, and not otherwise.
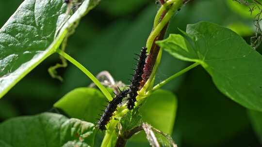
[{"label": "blurred dark green foliage background behind the leaves and vine stem", "polygon": [[[21,2],[0,1],[0,27]],[[192,0],[172,19],[167,33],[177,33],[177,28],[185,30],[186,24],[206,20],[233,30],[248,30],[238,33],[249,42],[253,35],[252,17],[241,15],[230,6],[228,0]],[[98,7],[81,20],[69,38],[66,52],[92,73],[107,70],[115,80],[128,83],[134,63],[131,55],[145,45],[158,7],[154,0],[101,0]],[[47,69],[57,62],[60,62],[57,54],[50,56],[0,99],[0,121],[50,112],[52,105],[67,92],[90,84],[90,80],[71,64],[58,71],[64,78],[63,83],[52,79]],[[164,52],[156,82],[187,64]],[[202,67],[189,71],[164,89],[178,97],[172,136],[179,147],[259,146],[246,108],[221,94]]]}]

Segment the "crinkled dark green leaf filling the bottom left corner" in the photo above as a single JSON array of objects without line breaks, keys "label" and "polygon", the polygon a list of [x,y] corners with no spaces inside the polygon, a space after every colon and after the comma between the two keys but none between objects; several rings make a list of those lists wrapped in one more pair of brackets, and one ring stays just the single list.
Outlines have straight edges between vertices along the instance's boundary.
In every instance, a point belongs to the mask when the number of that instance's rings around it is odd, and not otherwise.
[{"label": "crinkled dark green leaf filling the bottom left corner", "polygon": [[[43,113],[0,124],[4,147],[93,147],[95,125],[62,115]],[[1,146],[2,147],[2,146]]]}]

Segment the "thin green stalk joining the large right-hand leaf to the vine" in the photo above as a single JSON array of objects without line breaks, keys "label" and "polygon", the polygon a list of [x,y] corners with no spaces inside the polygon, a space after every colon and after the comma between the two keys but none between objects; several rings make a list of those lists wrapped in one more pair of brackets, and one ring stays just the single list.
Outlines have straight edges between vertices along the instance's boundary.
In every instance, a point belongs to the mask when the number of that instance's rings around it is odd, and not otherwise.
[{"label": "thin green stalk joining the large right-hand leaf to the vine", "polygon": [[156,86],[154,86],[154,88],[152,88],[152,90],[150,90],[150,92],[155,91],[155,90],[163,87],[166,83],[170,82],[171,80],[173,80],[174,78],[180,76],[181,74],[186,73],[187,71],[193,69],[193,68],[196,67],[197,65],[199,65],[199,63],[196,62],[196,63],[188,66],[187,68],[181,70],[180,72],[175,73],[174,75],[170,76],[169,78],[165,79],[164,81],[162,81],[162,82],[160,82],[159,84],[157,84]]}]

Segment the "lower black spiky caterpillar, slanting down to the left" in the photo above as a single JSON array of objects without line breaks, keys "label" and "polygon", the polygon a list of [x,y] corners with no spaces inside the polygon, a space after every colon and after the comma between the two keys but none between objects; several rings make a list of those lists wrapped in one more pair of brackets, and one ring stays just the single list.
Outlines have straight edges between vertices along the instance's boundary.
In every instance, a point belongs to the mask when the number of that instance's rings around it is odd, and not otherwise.
[{"label": "lower black spiky caterpillar, slanting down to the left", "polygon": [[98,121],[97,127],[99,130],[102,130],[102,131],[106,130],[105,126],[110,121],[111,117],[113,116],[117,108],[117,105],[122,102],[123,98],[127,97],[129,91],[130,91],[129,89],[120,91],[120,93],[117,94],[115,98],[108,103],[103,115],[101,115],[101,118]]}]

